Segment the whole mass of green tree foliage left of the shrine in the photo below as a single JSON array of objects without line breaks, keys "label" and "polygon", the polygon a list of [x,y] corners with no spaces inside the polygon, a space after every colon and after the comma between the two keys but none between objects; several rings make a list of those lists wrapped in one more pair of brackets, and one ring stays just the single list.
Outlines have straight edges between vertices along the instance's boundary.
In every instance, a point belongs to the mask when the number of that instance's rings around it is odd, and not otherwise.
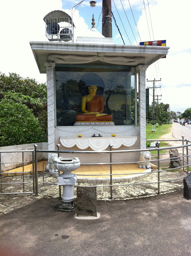
[{"label": "whole mass of green tree foliage left of the shrine", "polygon": [[[9,104],[9,107],[7,107]],[[9,75],[5,75],[0,73],[0,105],[1,111],[1,122],[0,122],[0,144],[7,145],[7,144],[17,144],[17,143],[29,143],[35,142],[36,138],[38,141],[47,141],[47,103],[46,103],[46,85],[45,83],[38,83],[35,79],[31,78],[23,78],[16,73],[9,73]],[[20,107],[18,107],[18,105]],[[21,105],[23,108],[21,107]],[[5,111],[6,109],[6,111]],[[25,121],[23,123],[27,126],[30,126],[31,123],[34,125],[35,132],[39,132],[39,134],[33,133],[32,130],[28,130],[28,134],[30,134],[30,139],[27,136],[23,136],[23,132],[20,133],[19,127],[12,128],[12,121],[6,122],[6,116],[9,116],[8,109],[10,114],[13,118],[13,114],[11,111],[14,112],[14,118],[18,118],[18,120],[22,117],[25,117]],[[25,109],[25,110],[24,110]],[[29,110],[29,112],[26,111]],[[30,118],[28,118],[30,113]],[[26,116],[21,116],[26,114]],[[33,118],[33,121],[31,121]],[[10,119],[10,116],[9,116]],[[35,121],[34,121],[35,120]],[[15,122],[15,120],[14,120]],[[3,126],[2,126],[3,125]],[[17,124],[16,124],[17,125]],[[38,128],[37,128],[37,126]],[[5,128],[8,129],[9,133],[7,137]],[[26,130],[23,128],[24,131]],[[10,131],[12,130],[12,135]],[[17,135],[15,135],[15,131]],[[26,132],[25,132],[26,133]],[[27,134],[27,135],[28,135]],[[26,135],[26,134],[25,134]],[[20,139],[18,138],[20,136]],[[11,139],[10,139],[11,138]],[[14,139],[15,138],[15,139]],[[25,141],[24,141],[25,138]]]}]

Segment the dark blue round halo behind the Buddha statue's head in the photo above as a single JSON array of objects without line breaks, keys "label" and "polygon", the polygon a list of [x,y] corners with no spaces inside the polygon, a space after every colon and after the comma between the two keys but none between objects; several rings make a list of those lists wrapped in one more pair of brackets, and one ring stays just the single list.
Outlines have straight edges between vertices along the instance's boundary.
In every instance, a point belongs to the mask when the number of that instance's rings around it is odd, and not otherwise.
[{"label": "dark blue round halo behind the Buddha statue's head", "polygon": [[80,80],[82,80],[85,86],[96,85],[98,87],[104,88],[103,79],[96,73],[85,73],[81,76]]}]

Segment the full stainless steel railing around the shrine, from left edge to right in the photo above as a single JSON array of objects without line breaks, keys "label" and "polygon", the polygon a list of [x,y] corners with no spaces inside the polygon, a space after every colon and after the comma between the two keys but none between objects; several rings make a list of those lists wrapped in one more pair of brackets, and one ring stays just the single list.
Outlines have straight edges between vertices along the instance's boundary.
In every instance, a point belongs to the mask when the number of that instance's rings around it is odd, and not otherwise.
[{"label": "full stainless steel railing around the shrine, from left edge to right", "polygon": [[[105,174],[96,174],[96,176],[108,176],[109,175],[109,183],[104,183],[104,184],[83,184],[83,186],[108,186],[110,187],[110,198],[112,198],[112,187],[114,186],[128,186],[128,185],[141,185],[141,184],[152,184],[152,183],[157,183],[157,193],[160,193],[160,183],[161,182],[169,182],[169,181],[173,181],[173,180],[177,180],[177,179],[181,179],[183,178],[185,175],[181,176],[181,177],[178,177],[178,178],[173,178],[173,179],[166,179],[166,180],[160,180],[160,173],[164,172],[164,171],[169,171],[169,170],[174,170],[174,169],[179,169],[179,168],[182,168],[183,171],[184,171],[184,168],[186,169],[186,174],[188,174],[188,171],[189,171],[189,165],[191,163],[191,153],[190,153],[190,148],[191,148],[191,141],[187,140],[187,139],[184,139],[184,137],[182,136],[182,139],[168,139],[168,140],[164,140],[164,139],[159,139],[159,140],[147,140],[147,141],[156,141],[156,147],[154,148],[145,148],[145,149],[130,149],[130,150],[112,150],[112,145],[109,144],[109,150],[104,150],[104,151],[68,151],[68,150],[59,150],[59,147],[60,145],[57,144],[57,150],[38,150],[37,149],[37,145],[35,144],[34,145],[34,150],[19,150],[19,151],[16,151],[16,152],[20,152],[22,153],[22,161],[20,162],[14,162],[16,164],[21,164],[22,166],[22,171],[20,172],[10,172],[8,171],[9,174],[14,174],[14,173],[19,173],[22,175],[22,181],[21,182],[3,182],[2,180],[2,176],[3,176],[3,173],[7,173],[7,172],[2,172],[1,171],[1,164],[3,164],[4,162],[1,162],[1,153],[10,153],[10,152],[15,152],[15,150],[13,151],[0,151],[0,194],[17,194],[17,193],[35,193],[35,195],[37,196],[38,195],[38,169],[37,169],[37,154],[39,152],[48,152],[48,153],[57,153],[58,156],[60,154],[63,154],[63,153],[71,153],[71,154],[102,154],[102,153],[106,153],[106,154],[109,154],[109,162],[96,162],[96,163],[81,163],[81,165],[104,165],[104,164],[109,164],[110,166],[110,173],[105,173]],[[160,147],[160,142],[161,141],[179,141],[181,143],[181,145],[178,145],[178,146],[168,146],[168,147]],[[185,142],[185,144],[184,144]],[[160,153],[161,150],[167,150],[167,149],[172,149],[172,148],[177,148],[177,149],[181,149],[182,152],[180,153],[181,155],[179,155],[178,157],[181,159],[181,166],[179,167],[175,167],[175,168],[167,168],[167,169],[160,169],[160,166],[161,166],[161,163],[162,161],[173,161],[173,160],[176,160],[177,157],[167,157],[167,158],[162,158],[160,159],[160,156],[161,155],[165,155],[167,153]],[[138,163],[139,161],[125,161],[125,162],[113,162],[112,161],[112,154],[115,154],[115,153],[132,153],[132,152],[141,152],[141,151],[150,151],[150,152],[153,152],[153,151],[156,151],[156,154],[157,155],[157,159],[151,159],[149,161],[144,161],[144,163],[146,162],[151,162],[151,163],[156,163],[157,164],[157,169],[156,170],[152,170],[151,172],[150,171],[144,171],[143,173],[144,174],[151,174],[151,173],[157,173],[157,181],[153,181],[153,182],[124,182],[123,184],[121,183],[116,183],[116,182],[113,182],[114,180],[114,177],[116,175],[134,175],[134,174],[137,174],[137,172],[134,172],[134,173],[113,173],[112,172],[112,166],[113,164],[123,164],[123,163]],[[186,153],[185,153],[186,151]],[[24,180],[24,174],[26,174],[27,172],[24,171],[24,164],[28,163],[26,161],[24,161],[24,157],[23,157],[23,153],[24,152],[30,152],[32,154],[32,181],[33,181],[33,184],[32,184],[32,189],[31,191],[25,191],[25,184],[26,183],[29,183],[28,181],[25,181]],[[154,155],[152,154],[152,155]],[[142,161],[141,161],[142,162]],[[13,162],[6,162],[6,163],[13,163]],[[44,162],[45,163],[49,163],[48,161],[47,162]],[[48,182],[45,182],[44,180],[44,164],[43,164],[43,168],[42,168],[42,175],[43,175],[43,183],[46,184],[46,185],[57,185],[56,183],[48,183]],[[29,172],[29,171],[28,171]],[[51,174],[49,172],[47,172],[47,174]],[[140,173],[142,174],[142,172]],[[93,176],[95,174],[85,174],[85,176]],[[80,176],[84,176],[84,174],[77,174],[78,177]],[[10,184],[10,185],[13,185],[13,184],[22,184],[22,191],[21,192],[3,192],[3,185],[7,185],[7,184]],[[76,186],[80,186],[79,184],[77,184]],[[60,190],[60,185],[59,185],[59,197],[61,197],[61,190]]]}]

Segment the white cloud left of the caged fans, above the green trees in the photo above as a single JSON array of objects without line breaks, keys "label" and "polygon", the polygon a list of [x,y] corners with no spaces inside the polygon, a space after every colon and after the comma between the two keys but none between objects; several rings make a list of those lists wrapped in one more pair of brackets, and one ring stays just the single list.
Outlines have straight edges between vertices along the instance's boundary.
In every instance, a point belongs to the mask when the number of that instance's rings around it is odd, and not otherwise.
[{"label": "white cloud left of the caged fans, above the green trees", "polygon": [[[43,17],[61,9],[61,0],[0,1],[0,71],[45,82],[40,74],[29,41],[46,41]],[[4,24],[4,25],[2,25]]]}]

